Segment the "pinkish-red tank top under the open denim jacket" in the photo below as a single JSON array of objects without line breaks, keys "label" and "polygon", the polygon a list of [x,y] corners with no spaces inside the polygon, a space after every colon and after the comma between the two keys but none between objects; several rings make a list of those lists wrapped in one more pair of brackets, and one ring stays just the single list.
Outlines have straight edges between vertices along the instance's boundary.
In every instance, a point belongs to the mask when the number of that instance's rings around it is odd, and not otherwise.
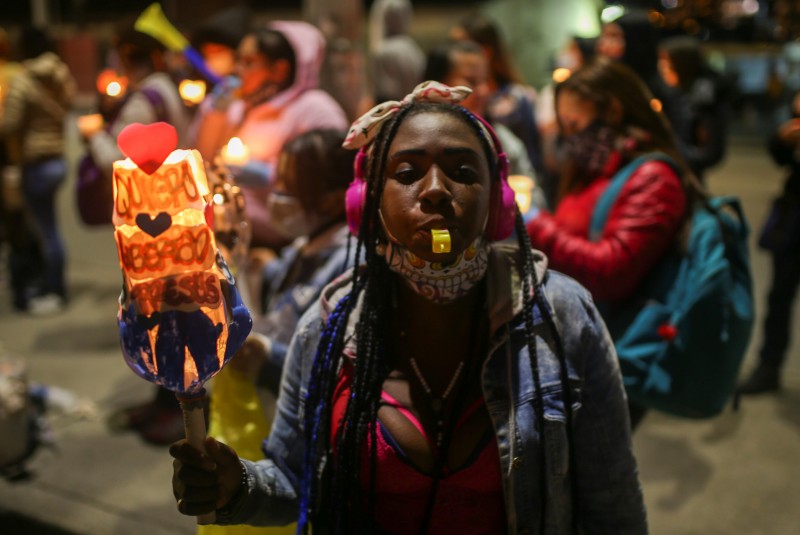
[{"label": "pinkish-red tank top under the open denim jacket", "polygon": [[[332,433],[339,426],[350,396],[353,367],[346,363],[334,392]],[[411,411],[386,392],[382,400],[400,411],[430,443],[421,423]],[[483,406],[477,400],[461,416],[456,429]],[[377,463],[375,522],[384,533],[419,533],[425,515],[433,478],[420,472],[405,457],[380,422],[376,422]],[[331,437],[333,438],[333,437]],[[369,491],[368,449],[363,449],[361,487]],[[443,474],[439,480],[428,533],[506,533],[505,501],[500,468],[500,455],[494,435],[488,437],[471,462],[455,472]]]}]

